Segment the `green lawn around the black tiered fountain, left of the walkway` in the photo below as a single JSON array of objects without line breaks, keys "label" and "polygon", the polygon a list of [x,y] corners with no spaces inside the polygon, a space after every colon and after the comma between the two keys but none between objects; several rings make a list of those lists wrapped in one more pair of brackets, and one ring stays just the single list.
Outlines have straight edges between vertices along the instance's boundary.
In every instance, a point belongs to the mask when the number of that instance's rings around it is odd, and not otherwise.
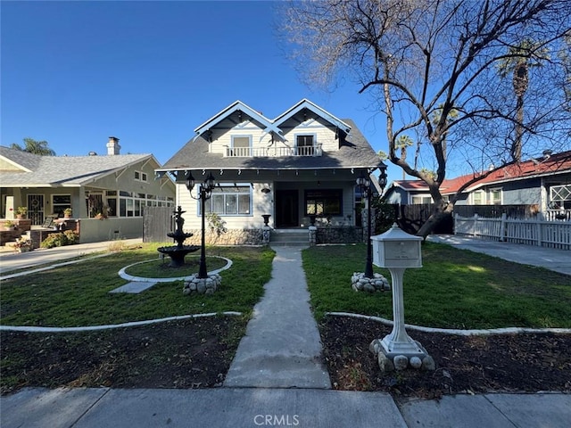
[{"label": "green lawn around the black tiered fountain, left of the walkway", "polygon": [[140,294],[110,293],[127,283],[118,276],[120,268],[158,257],[156,247],[143,245],[140,249],[4,280],[0,284],[0,324],[103,325],[227,310],[249,314],[271,277],[274,252],[269,249],[208,248],[207,263],[219,263],[219,259],[208,257],[211,255],[233,261],[232,268],[220,273],[222,285],[212,296],[185,296],[181,281],[156,284]]}]

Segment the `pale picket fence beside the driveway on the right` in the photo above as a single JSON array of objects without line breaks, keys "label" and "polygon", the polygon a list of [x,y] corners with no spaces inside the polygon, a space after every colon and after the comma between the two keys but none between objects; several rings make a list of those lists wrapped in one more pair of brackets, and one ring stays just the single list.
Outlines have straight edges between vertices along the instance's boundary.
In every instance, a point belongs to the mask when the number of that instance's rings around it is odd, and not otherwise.
[{"label": "pale picket fence beside the driveway on the right", "polygon": [[477,214],[464,218],[456,214],[454,234],[571,250],[571,221],[513,219],[505,214],[501,218],[481,218]]}]

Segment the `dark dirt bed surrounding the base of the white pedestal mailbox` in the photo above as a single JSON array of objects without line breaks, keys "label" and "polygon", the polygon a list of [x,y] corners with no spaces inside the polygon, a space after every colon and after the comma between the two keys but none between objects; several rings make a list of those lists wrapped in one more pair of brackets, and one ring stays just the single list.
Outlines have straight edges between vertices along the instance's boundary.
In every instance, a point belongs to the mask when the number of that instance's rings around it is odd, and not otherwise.
[{"label": "dark dirt bed surrounding the base of the white pedestal mailbox", "polygon": [[338,390],[426,399],[489,391],[571,392],[571,334],[467,337],[408,330],[434,358],[436,370],[383,374],[368,345],[391,333],[391,327],[352,317],[326,317],[320,331],[331,382]]}]

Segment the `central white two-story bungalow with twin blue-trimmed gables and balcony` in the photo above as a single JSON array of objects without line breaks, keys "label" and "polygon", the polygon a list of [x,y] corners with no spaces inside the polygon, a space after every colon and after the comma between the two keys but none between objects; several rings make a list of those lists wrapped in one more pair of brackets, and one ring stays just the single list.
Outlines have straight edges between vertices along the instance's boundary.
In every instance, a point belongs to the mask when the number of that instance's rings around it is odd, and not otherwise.
[{"label": "central white two-story bungalow with twin blue-trimmed gables and balcony", "polygon": [[200,231],[202,213],[186,177],[200,185],[211,174],[205,212],[225,223],[228,243],[260,242],[264,215],[273,229],[307,227],[313,216],[328,226],[355,226],[356,179],[385,169],[352,120],[306,99],[276,119],[236,101],[194,132],[157,173],[175,178],[191,231]]}]

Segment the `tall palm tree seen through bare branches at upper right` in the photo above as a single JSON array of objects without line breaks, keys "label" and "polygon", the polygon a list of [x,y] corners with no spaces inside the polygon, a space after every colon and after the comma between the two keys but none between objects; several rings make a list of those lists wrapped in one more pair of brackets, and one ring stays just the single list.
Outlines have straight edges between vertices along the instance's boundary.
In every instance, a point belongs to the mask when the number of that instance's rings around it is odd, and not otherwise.
[{"label": "tall palm tree seen through bare branches at upper right", "polygon": [[508,56],[498,65],[500,76],[512,73],[511,84],[516,95],[516,135],[511,144],[510,155],[513,161],[521,161],[522,136],[524,134],[524,95],[529,87],[529,69],[541,67],[542,61],[549,59],[547,49],[525,39],[519,45],[509,46]]}]

